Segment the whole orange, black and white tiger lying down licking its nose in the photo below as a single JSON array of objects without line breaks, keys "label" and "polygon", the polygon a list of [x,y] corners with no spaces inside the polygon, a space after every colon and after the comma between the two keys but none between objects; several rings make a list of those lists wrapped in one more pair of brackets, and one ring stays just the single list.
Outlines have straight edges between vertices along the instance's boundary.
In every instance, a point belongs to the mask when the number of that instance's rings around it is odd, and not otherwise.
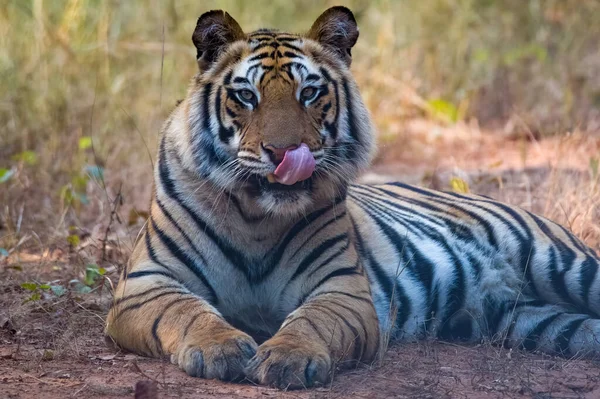
[{"label": "whole orange, black and white tiger lying down licking its nose", "polygon": [[390,341],[598,355],[600,259],[566,228],[484,196],[357,184],[376,147],[358,36],[341,6],[303,34],[200,16],[106,336],[281,389],[373,364]]}]

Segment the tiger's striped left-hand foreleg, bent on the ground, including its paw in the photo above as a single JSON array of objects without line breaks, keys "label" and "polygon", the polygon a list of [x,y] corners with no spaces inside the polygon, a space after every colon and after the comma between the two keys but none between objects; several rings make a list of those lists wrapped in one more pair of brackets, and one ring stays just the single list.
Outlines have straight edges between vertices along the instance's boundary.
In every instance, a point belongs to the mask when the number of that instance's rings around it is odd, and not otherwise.
[{"label": "tiger's striped left-hand foreleg, bent on the ground, including its paw", "polygon": [[256,352],[254,340],[159,265],[136,270],[117,287],[106,333],[132,352],[171,356],[194,377],[242,378]]}]

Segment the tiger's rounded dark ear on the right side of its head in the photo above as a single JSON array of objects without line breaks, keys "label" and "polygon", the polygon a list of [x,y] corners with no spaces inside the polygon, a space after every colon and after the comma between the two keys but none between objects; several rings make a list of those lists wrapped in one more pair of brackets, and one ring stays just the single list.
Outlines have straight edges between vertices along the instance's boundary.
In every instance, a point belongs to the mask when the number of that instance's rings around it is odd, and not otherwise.
[{"label": "tiger's rounded dark ear on the right side of its head", "polygon": [[334,50],[349,66],[352,62],[350,49],[358,40],[354,14],[342,6],[327,9],[308,31],[308,38]]}]

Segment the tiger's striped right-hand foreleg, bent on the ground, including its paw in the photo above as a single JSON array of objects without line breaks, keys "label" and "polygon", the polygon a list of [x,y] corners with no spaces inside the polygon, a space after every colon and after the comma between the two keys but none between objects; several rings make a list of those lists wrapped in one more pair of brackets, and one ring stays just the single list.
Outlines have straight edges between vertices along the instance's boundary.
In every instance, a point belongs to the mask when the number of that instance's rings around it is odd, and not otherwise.
[{"label": "tiger's striped right-hand foreleg, bent on the ground, including its paw", "polygon": [[363,270],[335,270],[313,287],[258,348],[247,368],[249,378],[284,389],[304,388],[326,382],[338,364],[375,360],[379,325]]}]

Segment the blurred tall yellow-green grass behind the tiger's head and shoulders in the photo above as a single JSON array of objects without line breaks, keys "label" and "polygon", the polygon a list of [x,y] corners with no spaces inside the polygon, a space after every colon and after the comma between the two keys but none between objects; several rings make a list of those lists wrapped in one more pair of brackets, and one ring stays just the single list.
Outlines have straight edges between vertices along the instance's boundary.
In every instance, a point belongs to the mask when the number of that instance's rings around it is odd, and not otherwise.
[{"label": "blurred tall yellow-green grass behind the tiger's head and shoulders", "polygon": [[[106,218],[117,190],[146,205],[160,125],[196,72],[202,12],[301,32],[338,3],[357,16],[353,69],[384,138],[414,117],[599,129],[598,0],[3,0],[0,228],[11,233],[0,235],[15,245],[25,205],[29,222],[58,231]],[[94,190],[106,198],[90,203]]]}]

